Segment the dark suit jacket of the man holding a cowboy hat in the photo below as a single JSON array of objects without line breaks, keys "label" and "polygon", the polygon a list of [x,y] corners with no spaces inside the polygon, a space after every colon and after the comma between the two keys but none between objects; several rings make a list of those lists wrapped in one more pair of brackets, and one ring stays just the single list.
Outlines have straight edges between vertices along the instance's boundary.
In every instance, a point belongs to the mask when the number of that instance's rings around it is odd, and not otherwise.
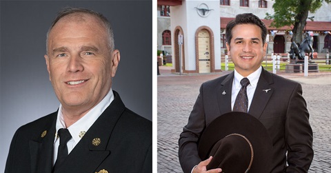
[{"label": "dark suit jacket of the man holding a cowboy hat", "polygon": [[[204,128],[217,116],[232,111],[233,78],[234,72],[201,85],[179,138],[179,161],[184,172],[190,172],[201,161],[197,143]],[[266,89],[271,90],[263,91]],[[223,95],[223,91],[227,94]],[[313,158],[312,128],[301,85],[262,70],[248,113],[263,123],[272,138],[270,172],[307,172]]]}]

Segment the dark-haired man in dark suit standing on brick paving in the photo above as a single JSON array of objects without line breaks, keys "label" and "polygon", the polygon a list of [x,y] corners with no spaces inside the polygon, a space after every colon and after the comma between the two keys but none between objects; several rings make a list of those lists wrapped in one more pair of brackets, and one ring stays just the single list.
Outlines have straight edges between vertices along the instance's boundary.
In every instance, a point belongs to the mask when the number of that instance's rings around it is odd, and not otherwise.
[{"label": "dark-haired man in dark suit standing on brick paving", "polygon": [[206,126],[232,111],[244,78],[250,82],[246,87],[248,113],[263,123],[272,138],[270,172],[308,172],[313,158],[312,128],[302,88],[261,67],[266,35],[265,25],[254,14],[238,14],[228,23],[226,47],[234,72],[201,85],[179,138],[179,161],[184,172],[221,172],[220,168],[206,170],[212,157],[201,161],[197,144]]}]

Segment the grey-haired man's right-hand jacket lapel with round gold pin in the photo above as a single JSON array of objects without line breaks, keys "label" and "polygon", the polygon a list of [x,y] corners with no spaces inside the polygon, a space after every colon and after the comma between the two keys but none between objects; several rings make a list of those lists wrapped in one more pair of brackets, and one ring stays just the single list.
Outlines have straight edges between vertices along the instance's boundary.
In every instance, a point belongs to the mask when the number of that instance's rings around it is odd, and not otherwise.
[{"label": "grey-haired man's right-hand jacket lapel with round gold pin", "polygon": [[102,161],[111,154],[107,148],[108,142],[111,141],[112,130],[125,109],[119,94],[114,92],[114,101],[77,143],[65,163],[59,167],[59,170],[54,170],[54,173],[95,172]]}]

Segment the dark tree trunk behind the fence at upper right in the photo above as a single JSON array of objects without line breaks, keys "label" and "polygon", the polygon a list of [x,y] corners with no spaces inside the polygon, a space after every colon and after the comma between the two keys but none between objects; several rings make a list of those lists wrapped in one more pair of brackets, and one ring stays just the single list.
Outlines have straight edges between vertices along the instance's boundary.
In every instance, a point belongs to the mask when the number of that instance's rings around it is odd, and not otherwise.
[{"label": "dark tree trunk behind the fence at upper right", "polygon": [[301,43],[302,41],[302,34],[303,30],[305,30],[306,20],[308,18],[308,12],[310,4],[312,3],[312,0],[301,0],[299,8],[302,8],[302,10],[299,10],[300,12],[294,17],[295,23],[293,27],[293,37],[292,41],[295,43]]}]

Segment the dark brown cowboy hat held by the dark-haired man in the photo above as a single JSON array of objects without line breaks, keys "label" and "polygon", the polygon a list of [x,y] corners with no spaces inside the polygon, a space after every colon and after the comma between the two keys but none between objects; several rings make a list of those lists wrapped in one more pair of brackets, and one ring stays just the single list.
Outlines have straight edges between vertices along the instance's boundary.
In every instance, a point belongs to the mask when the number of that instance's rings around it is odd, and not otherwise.
[{"label": "dark brown cowboy hat held by the dark-haired man", "polygon": [[270,135],[258,119],[245,112],[229,112],[214,119],[203,131],[198,151],[203,160],[213,156],[207,170],[270,172]]}]

